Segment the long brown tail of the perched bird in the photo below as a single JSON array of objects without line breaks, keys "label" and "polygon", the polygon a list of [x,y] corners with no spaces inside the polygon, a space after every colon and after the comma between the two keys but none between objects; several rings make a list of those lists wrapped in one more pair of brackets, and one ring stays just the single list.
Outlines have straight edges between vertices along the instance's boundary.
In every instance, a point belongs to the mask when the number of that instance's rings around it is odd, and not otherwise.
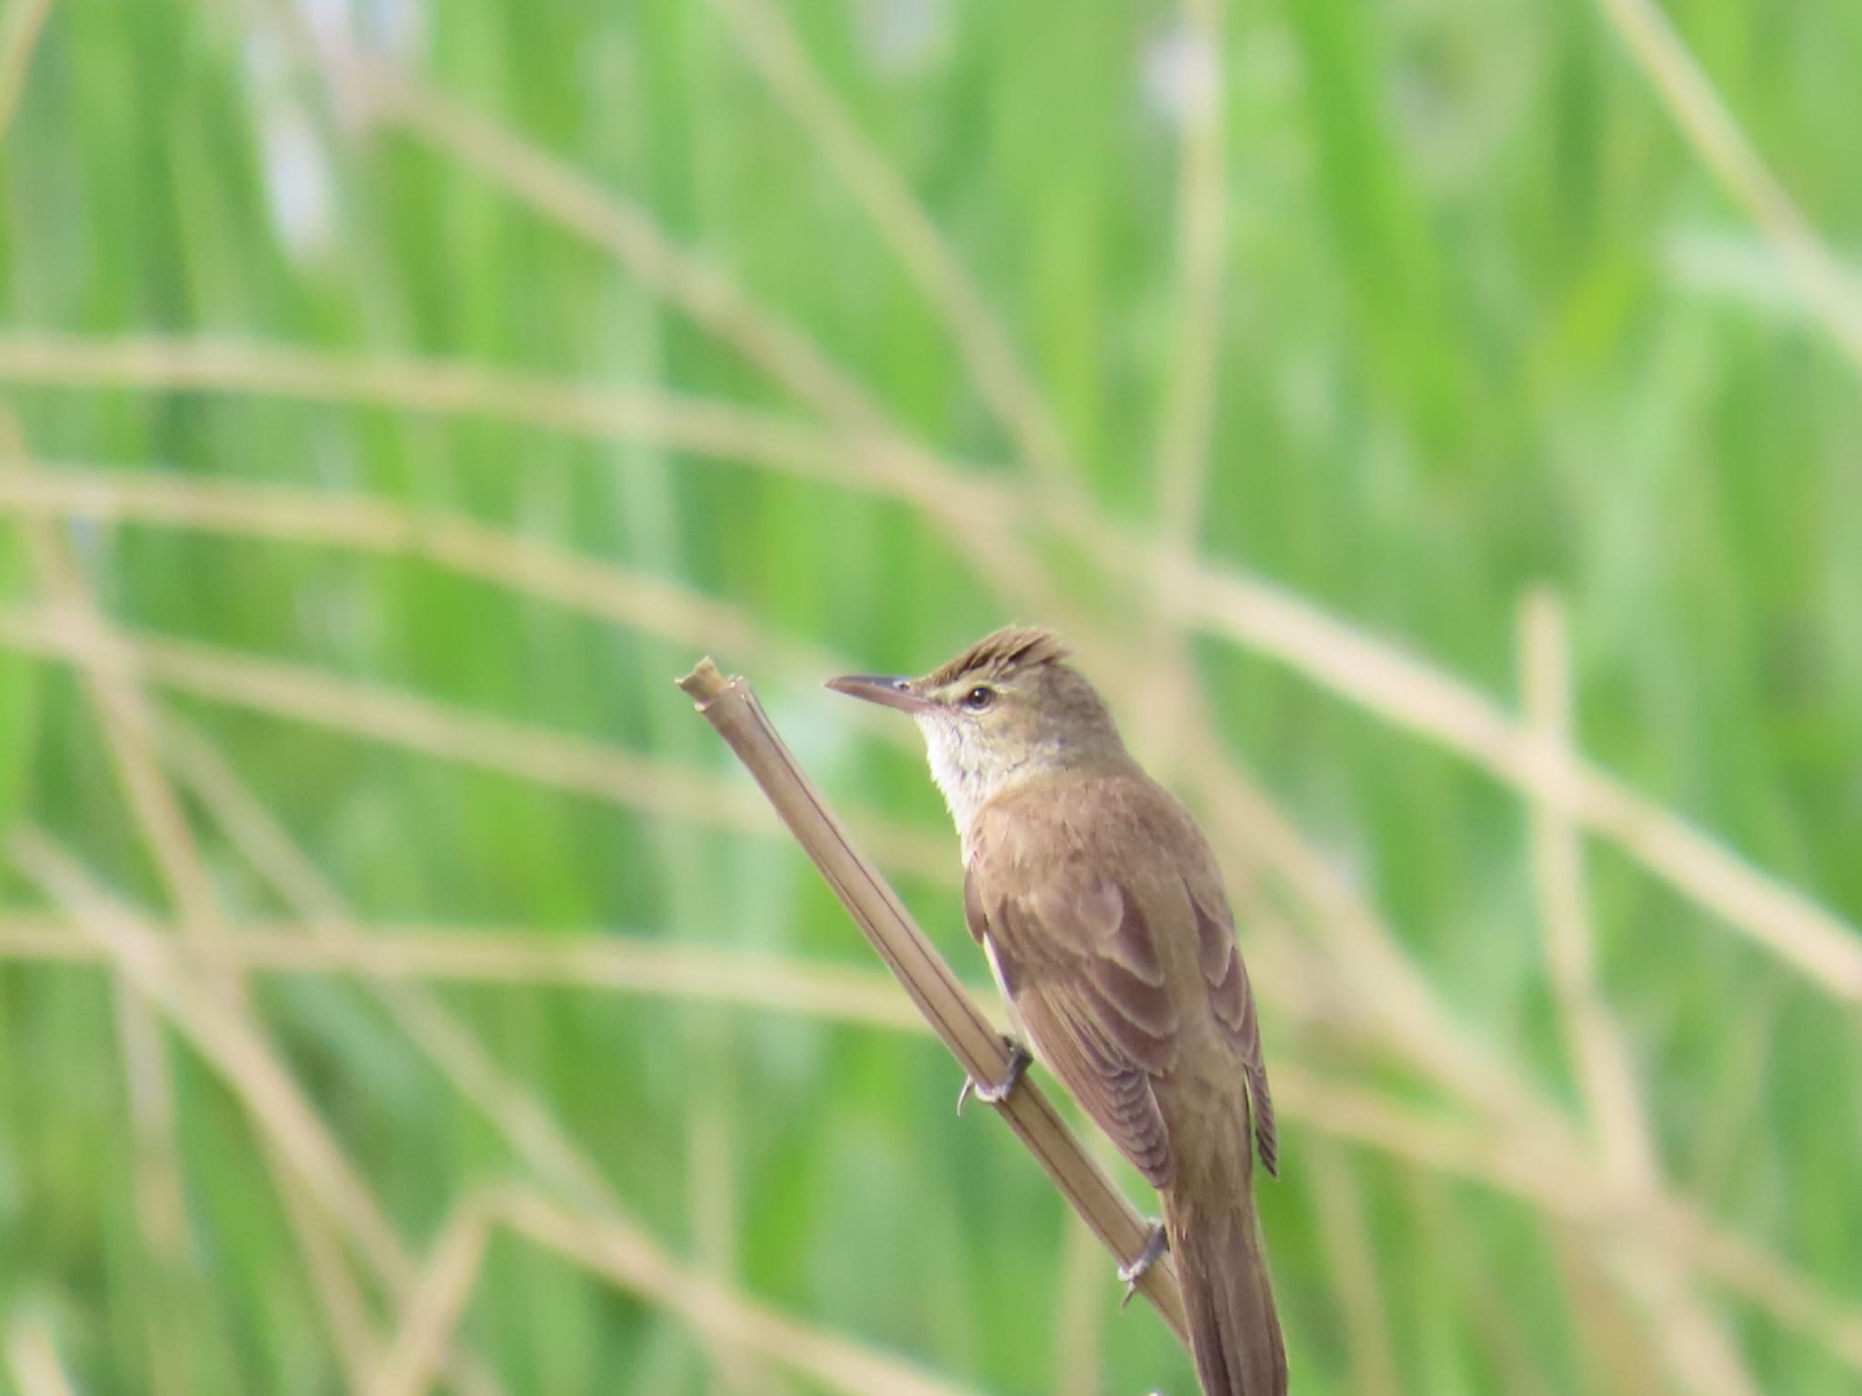
[{"label": "long brown tail of the perched bird", "polygon": [[1164,1227],[1182,1277],[1190,1349],[1205,1396],[1285,1396],[1287,1348],[1246,1178],[1214,1201],[1171,1189],[1164,1195]]}]

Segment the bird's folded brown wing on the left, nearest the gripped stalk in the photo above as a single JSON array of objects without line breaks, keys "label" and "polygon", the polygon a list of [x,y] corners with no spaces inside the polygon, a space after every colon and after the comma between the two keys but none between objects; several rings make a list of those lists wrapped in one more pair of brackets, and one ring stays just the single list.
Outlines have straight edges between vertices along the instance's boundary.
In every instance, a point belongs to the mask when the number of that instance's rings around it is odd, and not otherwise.
[{"label": "bird's folded brown wing on the left, nearest the gripped stalk", "polygon": [[1177,1009],[1136,899],[1112,880],[1005,895],[976,858],[963,903],[1030,1046],[1145,1180],[1167,1188],[1175,1160],[1151,1078],[1175,1061]]}]

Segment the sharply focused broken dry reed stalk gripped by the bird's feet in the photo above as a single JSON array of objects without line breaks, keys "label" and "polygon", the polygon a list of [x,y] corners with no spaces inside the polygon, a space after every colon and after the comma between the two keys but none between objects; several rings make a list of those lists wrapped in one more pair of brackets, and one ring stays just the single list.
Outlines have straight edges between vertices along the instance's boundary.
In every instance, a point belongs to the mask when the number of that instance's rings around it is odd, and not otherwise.
[{"label": "sharply focused broken dry reed stalk gripped by the bird's feet", "polygon": [[[907,914],[879,871],[855,852],[845,830],[827,812],[819,791],[795,765],[769,717],[741,678],[726,679],[709,659],[680,679],[704,718],[769,797],[803,852],[816,864],[873,949],[897,977],[925,1022],[978,1081],[998,1081],[1009,1054],[994,1024]],[[1024,1081],[996,1106],[1015,1135],[1093,1234],[1128,1264],[1143,1249],[1149,1227],[1106,1178],[1052,1102]],[[1182,1294],[1175,1266],[1156,1264],[1140,1282],[1164,1322],[1184,1336]]]}]

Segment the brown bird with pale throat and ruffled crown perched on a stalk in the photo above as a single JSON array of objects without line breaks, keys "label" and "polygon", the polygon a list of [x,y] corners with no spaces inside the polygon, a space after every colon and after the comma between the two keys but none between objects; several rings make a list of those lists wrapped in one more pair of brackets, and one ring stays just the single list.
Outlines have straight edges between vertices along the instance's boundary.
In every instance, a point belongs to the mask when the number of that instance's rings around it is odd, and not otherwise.
[{"label": "brown bird with pale throat and ruffled crown perched on a stalk", "polygon": [[[1162,1228],[1119,1277],[1167,1245],[1207,1396],[1281,1396],[1253,1201],[1255,1152],[1277,1169],[1274,1102],[1221,873],[1065,657],[1052,631],[1009,627],[924,678],[829,687],[918,722],[1017,1029],[1162,1195]],[[1004,1098],[1026,1061],[965,1093]]]}]

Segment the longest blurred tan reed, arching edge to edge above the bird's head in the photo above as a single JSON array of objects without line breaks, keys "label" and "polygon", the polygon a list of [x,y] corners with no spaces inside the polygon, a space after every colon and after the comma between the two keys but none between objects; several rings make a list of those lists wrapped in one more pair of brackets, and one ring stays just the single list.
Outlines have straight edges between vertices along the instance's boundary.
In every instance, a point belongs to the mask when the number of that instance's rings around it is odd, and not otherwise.
[{"label": "longest blurred tan reed, arching edge to edge above the bird's head", "polygon": [[[281,361],[272,363],[268,356]],[[244,363],[248,357],[257,357],[257,367]],[[514,393],[508,374],[462,369],[452,380],[445,376],[449,372],[419,361],[331,361],[276,346],[246,350],[158,339],[99,346],[82,339],[0,335],[0,378],[222,387],[339,400],[378,395],[371,400],[408,409],[482,411],[516,415],[551,430],[603,430],[603,423],[590,421],[600,417],[594,408],[601,398],[583,389],[562,391],[555,385],[560,396],[553,398],[547,383]],[[627,424],[605,424],[614,426]],[[763,460],[767,452],[758,452],[754,437],[760,430],[732,430],[719,450],[780,469],[780,462]],[[877,490],[924,510],[1005,597],[1024,597],[1026,605],[1052,596],[1032,568],[1019,564],[1019,547],[1009,532],[1011,525],[1032,525],[1046,516],[1063,532],[1091,545],[1095,557],[1121,575],[1160,588],[1164,607],[1179,620],[1289,666],[1374,717],[1473,761],[1497,780],[1532,787],[1538,767],[1527,750],[1527,733],[1491,698],[1261,579],[1182,555],[1158,558],[1156,549],[1127,538],[1084,501],[1061,499],[1056,508],[1054,499],[1043,501],[1026,491],[1017,495],[901,439],[836,449],[832,437],[817,437],[801,458],[817,456],[851,460],[857,467],[836,471],[838,484]],[[991,527],[979,530],[981,521],[991,521]],[[1588,761],[1577,761],[1575,769],[1560,765],[1555,776],[1547,776],[1553,778],[1573,791],[1573,813],[1586,828],[1616,843],[1754,944],[1797,966],[1825,992],[1862,1000],[1862,936],[1853,927]]]}]

